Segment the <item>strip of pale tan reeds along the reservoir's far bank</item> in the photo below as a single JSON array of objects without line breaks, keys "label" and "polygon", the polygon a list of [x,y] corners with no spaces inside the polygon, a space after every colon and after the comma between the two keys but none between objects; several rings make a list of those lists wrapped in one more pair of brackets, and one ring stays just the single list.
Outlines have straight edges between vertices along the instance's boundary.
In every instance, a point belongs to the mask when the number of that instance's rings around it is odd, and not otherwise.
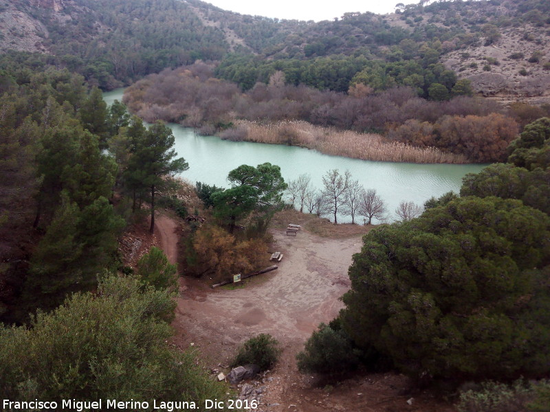
[{"label": "strip of pale tan reeds along the reservoir's far bank", "polygon": [[[388,141],[374,133],[356,133],[314,126],[303,121],[261,123],[239,121],[239,140],[287,144],[318,150],[326,155],[373,161],[410,163],[468,163],[463,155],[445,153],[433,147],[417,148]],[[228,137],[231,139],[231,137]]]}]

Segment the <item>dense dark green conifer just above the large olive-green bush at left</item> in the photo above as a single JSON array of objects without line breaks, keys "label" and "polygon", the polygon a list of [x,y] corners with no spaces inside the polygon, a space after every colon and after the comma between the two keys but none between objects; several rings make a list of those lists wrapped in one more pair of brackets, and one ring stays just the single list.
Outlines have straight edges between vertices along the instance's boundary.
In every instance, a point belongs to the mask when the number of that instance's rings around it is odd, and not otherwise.
[{"label": "dense dark green conifer just above the large olive-green bush at left", "polygon": [[51,310],[69,293],[96,286],[98,273],[113,264],[125,224],[106,198],[80,210],[66,192],[54,216],[31,258],[22,297],[26,312]]}]

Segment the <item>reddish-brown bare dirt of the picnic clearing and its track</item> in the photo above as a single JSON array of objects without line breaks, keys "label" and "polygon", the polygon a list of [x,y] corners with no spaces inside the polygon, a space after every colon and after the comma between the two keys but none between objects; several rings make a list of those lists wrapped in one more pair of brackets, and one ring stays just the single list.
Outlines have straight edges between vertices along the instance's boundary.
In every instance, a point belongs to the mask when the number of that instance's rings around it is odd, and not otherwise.
[{"label": "reddish-brown bare dirt of the picnic clearing and its track", "polygon": [[[287,236],[281,229],[284,220],[289,220],[285,225],[302,225],[297,236]],[[454,411],[430,393],[412,391],[405,376],[366,374],[322,387],[317,377],[298,372],[296,353],[319,323],[331,321],[343,307],[339,298],[350,286],[347,270],[361,249],[362,234],[370,229],[339,225],[332,237],[326,237],[326,230],[320,231],[322,237],[308,229],[319,231],[326,225],[293,211],[279,215],[270,233],[272,251],[283,253],[283,260],[275,262],[276,271],[242,284],[211,289],[208,279],[182,277],[173,344],[197,348],[197,358],[210,369],[227,373],[241,343],[260,333],[274,336],[283,354],[263,381],[266,390],[258,411]],[[159,216],[157,227],[160,244],[172,262],[179,223]],[[269,258],[266,255],[265,266],[274,264]]]}]

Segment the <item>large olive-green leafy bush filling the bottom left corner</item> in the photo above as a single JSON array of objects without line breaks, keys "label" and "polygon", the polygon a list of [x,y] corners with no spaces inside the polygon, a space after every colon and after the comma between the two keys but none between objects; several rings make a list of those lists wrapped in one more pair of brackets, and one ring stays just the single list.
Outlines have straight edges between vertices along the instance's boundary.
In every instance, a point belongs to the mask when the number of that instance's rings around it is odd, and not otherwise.
[{"label": "large olive-green leafy bush filling the bottom left corner", "polygon": [[175,350],[163,320],[175,303],[138,279],[110,275],[30,328],[0,328],[0,397],[12,400],[223,399],[221,385]]}]

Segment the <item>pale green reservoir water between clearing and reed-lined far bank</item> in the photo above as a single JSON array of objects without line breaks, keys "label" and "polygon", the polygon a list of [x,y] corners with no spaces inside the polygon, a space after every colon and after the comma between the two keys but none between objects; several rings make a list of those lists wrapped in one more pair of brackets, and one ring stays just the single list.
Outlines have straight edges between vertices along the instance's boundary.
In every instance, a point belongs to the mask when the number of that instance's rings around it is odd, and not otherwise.
[{"label": "pale green reservoir water between clearing and reed-lined far bank", "polygon": [[[104,93],[104,100],[111,104],[122,101],[124,89]],[[285,181],[297,179],[309,173],[311,183],[322,188],[322,176],[337,169],[343,174],[351,172],[365,189],[375,189],[386,202],[388,220],[395,219],[395,208],[400,201],[413,201],[423,205],[432,196],[439,197],[449,192],[459,192],[462,178],[467,173],[480,172],[484,165],[450,165],[393,163],[364,161],[347,157],[323,155],[315,150],[294,146],[225,141],[215,136],[200,136],[192,128],[168,124],[175,137],[175,150],[179,157],[189,163],[189,170],[181,177],[192,183],[201,181],[209,185],[229,187],[226,180],[230,170],[239,165],[256,166],[270,162],[281,167]],[[327,216],[329,217],[329,216]],[[362,218],[356,217],[356,222]],[[341,216],[338,222],[351,222],[351,217]]]}]

